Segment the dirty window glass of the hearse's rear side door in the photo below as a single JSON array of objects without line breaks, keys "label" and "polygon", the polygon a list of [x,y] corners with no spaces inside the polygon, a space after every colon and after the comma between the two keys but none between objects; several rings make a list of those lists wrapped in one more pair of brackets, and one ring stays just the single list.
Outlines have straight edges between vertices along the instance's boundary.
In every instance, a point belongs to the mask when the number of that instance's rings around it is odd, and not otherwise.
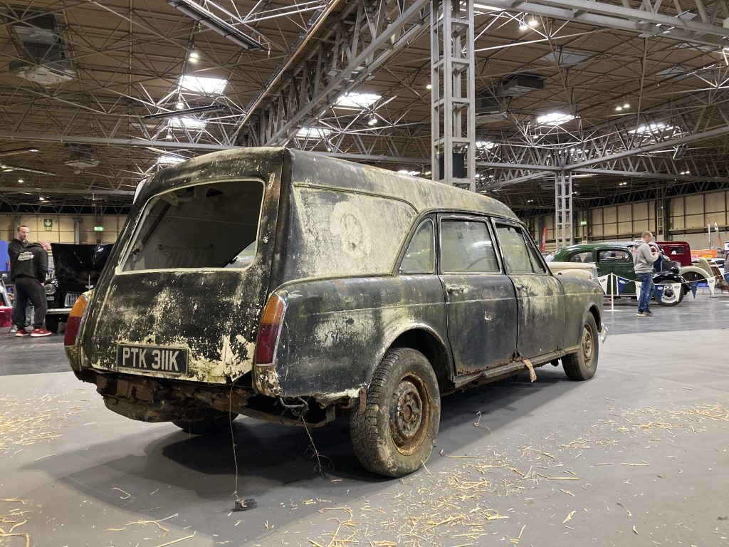
[{"label": "dirty window glass of the hearse's rear side door", "polygon": [[444,273],[493,274],[501,271],[486,222],[440,222],[440,268]]}]

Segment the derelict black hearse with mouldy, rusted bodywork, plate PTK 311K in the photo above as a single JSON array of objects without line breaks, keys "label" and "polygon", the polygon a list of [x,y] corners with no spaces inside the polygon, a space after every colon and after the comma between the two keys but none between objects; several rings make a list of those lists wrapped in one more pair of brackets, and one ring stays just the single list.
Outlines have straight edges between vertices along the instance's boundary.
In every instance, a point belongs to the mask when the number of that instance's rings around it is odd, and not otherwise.
[{"label": "derelict black hearse with mouldy, rusted bodywork, plate PTK 311K", "polygon": [[397,477],[431,454],[441,395],[560,360],[590,379],[602,300],[499,201],[248,148],[147,181],[64,344],[123,416],[193,433],[342,416],[363,467]]}]

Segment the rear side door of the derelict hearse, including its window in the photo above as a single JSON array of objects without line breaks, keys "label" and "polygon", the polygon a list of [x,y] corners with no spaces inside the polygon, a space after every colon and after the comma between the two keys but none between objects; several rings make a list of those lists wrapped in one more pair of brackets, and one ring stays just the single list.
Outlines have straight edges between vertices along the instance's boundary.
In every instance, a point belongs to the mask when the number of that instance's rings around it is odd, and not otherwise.
[{"label": "rear side door of the derelict hearse, including its window", "polygon": [[438,220],[438,268],[456,373],[512,361],[516,295],[504,274],[488,220],[447,214]]}]

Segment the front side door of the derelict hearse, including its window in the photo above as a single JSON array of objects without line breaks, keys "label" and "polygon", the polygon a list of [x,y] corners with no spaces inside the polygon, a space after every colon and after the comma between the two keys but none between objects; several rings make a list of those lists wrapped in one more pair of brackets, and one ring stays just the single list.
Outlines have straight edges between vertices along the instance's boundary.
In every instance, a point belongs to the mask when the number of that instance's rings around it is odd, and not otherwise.
[{"label": "front side door of the derelict hearse, including its window", "polygon": [[555,352],[564,340],[564,290],[521,226],[496,221],[496,236],[518,306],[518,351],[523,357]]}]

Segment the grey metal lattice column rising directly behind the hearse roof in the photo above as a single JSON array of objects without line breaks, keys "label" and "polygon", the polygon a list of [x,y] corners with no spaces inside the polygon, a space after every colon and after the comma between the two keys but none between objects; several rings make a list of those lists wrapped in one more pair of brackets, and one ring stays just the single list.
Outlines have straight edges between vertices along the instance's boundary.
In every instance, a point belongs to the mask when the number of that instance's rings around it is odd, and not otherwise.
[{"label": "grey metal lattice column rising directly behind the hearse roof", "polygon": [[432,2],[432,179],[476,190],[473,3]]}]

